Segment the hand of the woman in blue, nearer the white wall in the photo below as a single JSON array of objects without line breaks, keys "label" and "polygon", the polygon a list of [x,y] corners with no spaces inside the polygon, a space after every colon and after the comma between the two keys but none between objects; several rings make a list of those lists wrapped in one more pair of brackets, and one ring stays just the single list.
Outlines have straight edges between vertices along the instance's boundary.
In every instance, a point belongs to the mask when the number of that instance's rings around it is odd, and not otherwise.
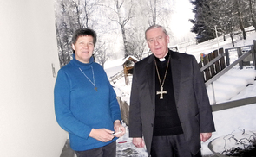
[{"label": "hand of the woman in blue, nearer the white wall", "polygon": [[98,141],[107,142],[114,138],[113,131],[109,129],[92,129],[89,136],[95,138]]}]

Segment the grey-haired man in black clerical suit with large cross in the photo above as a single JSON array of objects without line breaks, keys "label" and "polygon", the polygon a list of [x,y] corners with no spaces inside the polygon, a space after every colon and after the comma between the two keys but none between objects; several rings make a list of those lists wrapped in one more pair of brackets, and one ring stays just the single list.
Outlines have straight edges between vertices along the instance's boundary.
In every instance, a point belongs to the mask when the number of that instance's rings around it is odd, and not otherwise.
[{"label": "grey-haired man in black clerical suit with large cross", "polygon": [[201,156],[200,141],[215,129],[200,68],[194,56],[168,49],[162,26],[145,35],[153,54],[134,67],[129,136],[151,157]]}]

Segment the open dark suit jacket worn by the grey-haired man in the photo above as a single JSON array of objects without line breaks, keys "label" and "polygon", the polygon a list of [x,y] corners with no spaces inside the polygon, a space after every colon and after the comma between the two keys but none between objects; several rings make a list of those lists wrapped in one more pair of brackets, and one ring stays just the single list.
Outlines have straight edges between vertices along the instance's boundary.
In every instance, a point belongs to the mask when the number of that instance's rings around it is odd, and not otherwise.
[{"label": "open dark suit jacket worn by the grey-haired man", "polygon": [[[170,51],[174,97],[185,139],[192,154],[200,151],[200,133],[215,131],[202,72],[194,56]],[[148,154],[154,128],[154,55],[135,63],[129,109],[129,136],[144,137]]]}]

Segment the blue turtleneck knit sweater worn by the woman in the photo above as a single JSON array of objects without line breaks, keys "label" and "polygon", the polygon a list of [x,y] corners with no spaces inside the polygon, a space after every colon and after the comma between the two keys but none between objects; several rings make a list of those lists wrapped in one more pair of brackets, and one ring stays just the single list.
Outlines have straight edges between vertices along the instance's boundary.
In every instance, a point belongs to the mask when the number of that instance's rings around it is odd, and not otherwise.
[{"label": "blue turtleneck knit sweater worn by the woman", "polygon": [[[114,131],[115,120],[121,120],[119,104],[102,66],[92,57],[89,64],[75,60],[75,55],[73,58],[57,75],[54,90],[56,120],[69,132],[70,146],[75,151],[100,148],[116,138],[102,142],[89,137],[89,133],[91,129],[103,128]],[[79,67],[92,82],[93,69],[98,91]]]}]

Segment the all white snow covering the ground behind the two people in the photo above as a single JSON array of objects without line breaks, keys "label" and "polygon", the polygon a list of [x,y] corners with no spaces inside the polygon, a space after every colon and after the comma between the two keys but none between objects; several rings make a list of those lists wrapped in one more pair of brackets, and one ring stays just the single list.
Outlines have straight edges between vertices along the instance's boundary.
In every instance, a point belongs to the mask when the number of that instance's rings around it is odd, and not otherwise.
[{"label": "all white snow covering the ground behind the two people", "polygon": [[[240,36],[235,37],[235,47],[242,47],[247,45],[253,45],[253,40],[256,39],[256,33],[247,33],[246,40],[240,40]],[[222,37],[219,37],[219,44],[217,40],[207,41],[200,43],[198,45],[183,47],[180,52],[193,54],[196,59],[200,60],[200,53],[210,53],[213,50],[220,47],[229,48],[232,47],[230,38],[226,36],[226,41],[221,41]],[[230,53],[231,63],[236,60],[237,53]],[[113,76],[117,72],[121,72],[122,60],[111,60],[106,63],[106,72],[108,78]],[[211,104],[213,104],[213,89],[217,104],[241,99],[245,97],[256,96],[256,71],[254,66],[246,66],[240,70],[239,66],[234,66],[233,69],[226,72],[220,79],[213,82],[212,85],[207,86],[207,92]],[[111,83],[114,86],[117,96],[121,97],[123,101],[129,104],[130,88],[132,83],[132,76],[129,76],[130,84],[125,85],[124,78],[118,79],[115,83]],[[213,87],[213,89],[212,89]],[[256,104],[249,104],[237,108],[220,110],[213,112],[213,119],[215,123],[216,132],[213,133],[211,139],[207,142],[202,142],[201,152],[203,155],[213,155],[213,153],[208,148],[208,143],[213,141],[213,139],[218,138],[223,135],[228,135],[231,133],[239,133],[242,129],[246,131],[256,130]],[[127,134],[118,139],[117,144],[117,156],[136,156],[143,157],[147,156],[146,150],[135,148],[131,143],[132,139],[128,138],[128,127]]]}]

